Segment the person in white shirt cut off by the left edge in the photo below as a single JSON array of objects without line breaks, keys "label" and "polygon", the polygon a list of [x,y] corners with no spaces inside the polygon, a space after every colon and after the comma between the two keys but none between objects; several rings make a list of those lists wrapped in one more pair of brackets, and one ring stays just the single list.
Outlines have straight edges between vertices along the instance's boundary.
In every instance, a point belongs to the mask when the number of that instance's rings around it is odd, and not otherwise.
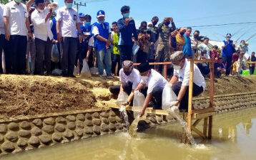
[{"label": "person in white shirt cut off by the left edge", "polygon": [[2,68],[2,52],[4,50],[4,4],[0,4],[0,74],[3,73],[3,68]]}]

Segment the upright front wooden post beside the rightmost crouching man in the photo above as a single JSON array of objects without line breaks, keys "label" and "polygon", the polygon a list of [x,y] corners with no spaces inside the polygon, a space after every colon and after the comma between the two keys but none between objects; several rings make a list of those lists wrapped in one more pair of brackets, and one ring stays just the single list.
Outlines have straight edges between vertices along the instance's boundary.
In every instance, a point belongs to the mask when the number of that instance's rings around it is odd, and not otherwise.
[{"label": "upright front wooden post beside the rightmost crouching man", "polygon": [[194,78],[194,60],[190,59],[190,73],[189,73],[189,106],[187,112],[187,127],[192,132],[192,97],[193,97],[193,78]]}]

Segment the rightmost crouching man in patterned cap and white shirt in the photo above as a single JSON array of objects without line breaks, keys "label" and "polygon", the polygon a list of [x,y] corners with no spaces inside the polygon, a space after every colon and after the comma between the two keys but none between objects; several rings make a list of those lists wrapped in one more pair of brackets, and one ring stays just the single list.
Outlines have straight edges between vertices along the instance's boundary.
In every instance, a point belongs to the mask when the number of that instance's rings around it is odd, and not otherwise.
[{"label": "rightmost crouching man in patterned cap and white shirt", "polygon": [[[172,85],[172,90],[177,95],[177,101],[172,106],[179,105],[179,110],[187,112],[190,62],[184,58],[182,51],[174,52],[170,56],[170,60],[174,68],[174,75],[169,84]],[[205,86],[205,78],[197,65],[194,64],[193,96],[200,95],[205,90]]]}]

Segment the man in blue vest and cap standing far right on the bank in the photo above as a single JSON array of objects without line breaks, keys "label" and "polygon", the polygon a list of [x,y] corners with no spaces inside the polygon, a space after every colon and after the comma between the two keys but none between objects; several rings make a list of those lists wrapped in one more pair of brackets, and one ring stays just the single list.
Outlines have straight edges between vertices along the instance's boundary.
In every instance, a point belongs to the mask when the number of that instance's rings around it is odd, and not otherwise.
[{"label": "man in blue vest and cap standing far right on the bank", "polygon": [[233,41],[230,40],[231,34],[227,33],[226,41],[223,41],[222,45],[222,59],[224,65],[226,65],[226,76],[230,75],[232,65],[232,55],[234,53]]}]

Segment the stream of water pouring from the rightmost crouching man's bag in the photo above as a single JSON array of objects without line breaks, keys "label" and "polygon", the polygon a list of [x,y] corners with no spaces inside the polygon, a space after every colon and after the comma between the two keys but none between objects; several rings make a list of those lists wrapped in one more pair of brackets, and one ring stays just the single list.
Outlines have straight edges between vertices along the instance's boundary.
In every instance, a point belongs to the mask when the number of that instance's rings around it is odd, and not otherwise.
[{"label": "stream of water pouring from the rightmost crouching man's bag", "polygon": [[170,114],[170,115],[173,115],[174,118],[177,119],[177,121],[179,122],[179,124],[182,125],[182,128],[184,129],[184,132],[187,136],[187,138],[189,139],[189,142],[191,143],[191,145],[193,147],[196,147],[197,146],[197,143],[195,142],[195,139],[194,137],[192,137],[192,134],[190,132],[190,130],[187,128],[187,122],[184,121],[184,119],[182,119],[182,117],[179,117],[179,109],[178,107],[174,106],[172,108],[168,108],[167,109],[167,112]]}]

